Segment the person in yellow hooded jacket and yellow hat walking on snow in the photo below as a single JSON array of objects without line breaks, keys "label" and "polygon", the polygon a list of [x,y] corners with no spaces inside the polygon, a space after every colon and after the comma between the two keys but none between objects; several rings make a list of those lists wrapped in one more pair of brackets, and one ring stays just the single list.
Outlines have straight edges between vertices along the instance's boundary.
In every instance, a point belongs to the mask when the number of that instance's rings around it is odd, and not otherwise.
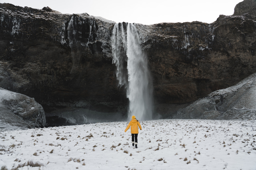
[{"label": "person in yellow hooded jacket and yellow hat walking on snow", "polygon": [[141,129],[141,124],[140,124],[139,121],[136,120],[135,116],[132,116],[132,120],[130,121],[130,123],[128,124],[128,126],[124,130],[124,132],[126,132],[130,128],[130,126],[131,126],[131,134],[132,134],[132,146],[134,146],[134,137],[135,137],[135,148],[138,148],[137,147],[138,133],[139,133],[138,126]]}]

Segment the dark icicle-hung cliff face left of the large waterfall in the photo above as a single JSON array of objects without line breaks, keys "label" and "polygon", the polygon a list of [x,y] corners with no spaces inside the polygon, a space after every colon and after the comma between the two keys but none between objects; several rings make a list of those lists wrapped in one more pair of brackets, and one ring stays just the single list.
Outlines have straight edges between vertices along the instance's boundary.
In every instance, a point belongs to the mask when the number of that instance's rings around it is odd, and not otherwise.
[{"label": "dark icicle-hung cliff face left of the large waterfall", "polygon": [[1,87],[34,97],[44,108],[102,106],[108,111],[123,98],[127,102],[109,54],[114,22],[49,7],[0,8]]}]

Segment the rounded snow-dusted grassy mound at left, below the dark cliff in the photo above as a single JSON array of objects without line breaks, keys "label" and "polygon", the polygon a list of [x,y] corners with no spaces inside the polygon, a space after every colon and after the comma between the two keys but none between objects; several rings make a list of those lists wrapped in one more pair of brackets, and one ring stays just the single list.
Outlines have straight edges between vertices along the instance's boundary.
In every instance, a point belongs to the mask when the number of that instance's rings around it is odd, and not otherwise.
[{"label": "rounded snow-dusted grassy mound at left, below the dark cliff", "polygon": [[0,87],[0,128],[34,128],[45,123],[44,109],[34,98]]}]

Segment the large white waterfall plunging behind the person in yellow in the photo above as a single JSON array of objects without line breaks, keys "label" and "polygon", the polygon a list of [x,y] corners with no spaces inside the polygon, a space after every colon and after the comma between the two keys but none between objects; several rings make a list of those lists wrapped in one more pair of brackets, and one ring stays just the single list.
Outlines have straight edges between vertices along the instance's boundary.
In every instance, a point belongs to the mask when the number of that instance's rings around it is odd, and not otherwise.
[{"label": "large white waterfall plunging behind the person in yellow", "polygon": [[111,44],[116,77],[119,86],[126,88],[126,96],[129,98],[128,118],[135,115],[137,120],[151,120],[153,85],[147,56],[141,49],[135,25],[115,24]]}]

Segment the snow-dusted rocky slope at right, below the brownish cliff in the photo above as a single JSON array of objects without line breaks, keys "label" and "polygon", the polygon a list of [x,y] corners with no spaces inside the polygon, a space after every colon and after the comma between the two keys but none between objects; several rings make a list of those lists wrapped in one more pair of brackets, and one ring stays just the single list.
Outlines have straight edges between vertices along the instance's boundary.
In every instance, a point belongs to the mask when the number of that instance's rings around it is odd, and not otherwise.
[{"label": "snow-dusted rocky slope at right, below the brownish cliff", "polygon": [[179,109],[173,118],[255,120],[256,73]]}]

